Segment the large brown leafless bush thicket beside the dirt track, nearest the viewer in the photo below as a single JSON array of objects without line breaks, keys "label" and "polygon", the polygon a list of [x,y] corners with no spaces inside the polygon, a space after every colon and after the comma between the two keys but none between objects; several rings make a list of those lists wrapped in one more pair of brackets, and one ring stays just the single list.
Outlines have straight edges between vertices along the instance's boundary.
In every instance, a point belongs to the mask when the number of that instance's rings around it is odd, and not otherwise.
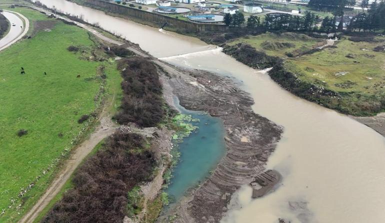
[{"label": "large brown leafless bush thicket beside the dirt track, nearest the viewer", "polygon": [[[155,160],[143,149],[135,133],[115,133],[75,173],[74,188],[42,222],[122,222],[127,212],[127,192],[149,180]],[[137,152],[137,149],[143,149]]]}]

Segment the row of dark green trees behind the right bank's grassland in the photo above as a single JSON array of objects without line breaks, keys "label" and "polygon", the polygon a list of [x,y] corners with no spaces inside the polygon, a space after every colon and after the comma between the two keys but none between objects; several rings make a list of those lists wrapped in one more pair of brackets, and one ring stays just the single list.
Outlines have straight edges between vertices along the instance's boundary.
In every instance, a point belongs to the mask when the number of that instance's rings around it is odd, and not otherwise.
[{"label": "row of dark green trees behind the right bank's grassland", "polygon": [[[325,1],[326,2],[326,1]],[[339,1],[334,1],[333,4],[327,3],[328,6],[342,7],[347,1],[338,3]],[[339,6],[338,6],[339,5]],[[370,5],[367,0],[363,0],[361,3],[362,12],[353,16],[348,23],[347,29],[349,31],[377,31],[380,29],[385,29],[385,1],[378,2],[375,0]],[[364,8],[370,8],[367,12],[364,11]],[[335,32],[342,31],[343,23],[347,20],[343,16],[343,11],[333,11],[334,16],[326,16],[321,19],[318,15],[313,12],[305,11],[303,16],[291,15],[286,13],[270,13],[266,14],[264,21],[258,16],[250,15],[247,20],[245,20],[243,14],[237,11],[235,14],[225,14],[224,23],[230,27],[242,27],[246,23],[247,28],[260,30],[286,30],[286,31],[317,31],[317,32]],[[336,27],[336,21],[339,21],[338,27]],[[350,18],[349,18],[350,19]],[[320,25],[317,25],[320,23]]]}]

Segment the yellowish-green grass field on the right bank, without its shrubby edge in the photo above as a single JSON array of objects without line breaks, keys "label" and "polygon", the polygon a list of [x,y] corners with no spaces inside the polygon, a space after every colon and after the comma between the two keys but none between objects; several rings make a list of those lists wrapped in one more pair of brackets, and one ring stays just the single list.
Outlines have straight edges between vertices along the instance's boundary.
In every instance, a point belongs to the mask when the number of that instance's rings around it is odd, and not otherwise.
[{"label": "yellowish-green grass field on the right bank, without its shrubby edge", "polygon": [[353,42],[343,38],[336,42],[336,48],[303,55],[286,65],[290,71],[302,74],[304,80],[318,80],[333,91],[377,94],[385,91],[385,53],[373,51],[377,45],[385,44],[385,38],[378,40],[384,42]]}]

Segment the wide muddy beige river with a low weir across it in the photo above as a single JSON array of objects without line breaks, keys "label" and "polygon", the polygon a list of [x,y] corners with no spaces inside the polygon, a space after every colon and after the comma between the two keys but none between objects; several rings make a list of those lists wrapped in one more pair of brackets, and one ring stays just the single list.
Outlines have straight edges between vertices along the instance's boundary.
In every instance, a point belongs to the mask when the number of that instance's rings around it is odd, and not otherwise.
[{"label": "wide muddy beige river with a low weir across it", "polygon": [[275,191],[251,199],[244,186],[234,196],[242,208],[223,222],[383,222],[385,139],[345,115],[300,99],[280,88],[263,70],[251,69],[212,45],[176,33],[115,18],[64,0],[40,0],[61,11],[119,33],[156,57],[236,78],[253,97],[253,109],[284,127],[268,168],[283,179]]}]

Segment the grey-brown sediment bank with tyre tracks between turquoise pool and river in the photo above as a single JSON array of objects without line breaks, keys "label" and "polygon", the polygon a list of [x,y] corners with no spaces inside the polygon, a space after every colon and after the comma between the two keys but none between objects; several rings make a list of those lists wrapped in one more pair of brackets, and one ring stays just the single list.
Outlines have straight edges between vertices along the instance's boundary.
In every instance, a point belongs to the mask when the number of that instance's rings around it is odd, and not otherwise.
[{"label": "grey-brown sediment bank with tyre tracks between turquoise pool and river", "polygon": [[[263,174],[282,128],[255,114],[252,98],[230,78],[200,70],[178,72],[164,64],[162,67],[170,76],[163,89],[171,87],[187,109],[220,117],[226,129],[225,157],[211,176],[171,211],[178,215],[174,222],[219,222],[235,190]],[[248,140],[242,140],[244,137]]]}]

